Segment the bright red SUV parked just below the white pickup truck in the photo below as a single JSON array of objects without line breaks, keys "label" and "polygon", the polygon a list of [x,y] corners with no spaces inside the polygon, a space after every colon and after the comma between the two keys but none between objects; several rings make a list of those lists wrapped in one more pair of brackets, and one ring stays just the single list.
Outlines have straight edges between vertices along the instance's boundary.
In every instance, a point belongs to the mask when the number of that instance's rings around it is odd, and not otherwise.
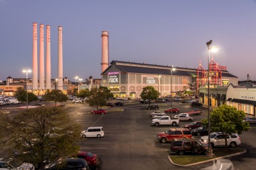
[{"label": "bright red SUV parked just below the white pickup truck", "polygon": [[157,134],[156,139],[161,143],[172,141],[174,138],[192,138],[191,132],[188,129],[169,129],[166,132]]}]

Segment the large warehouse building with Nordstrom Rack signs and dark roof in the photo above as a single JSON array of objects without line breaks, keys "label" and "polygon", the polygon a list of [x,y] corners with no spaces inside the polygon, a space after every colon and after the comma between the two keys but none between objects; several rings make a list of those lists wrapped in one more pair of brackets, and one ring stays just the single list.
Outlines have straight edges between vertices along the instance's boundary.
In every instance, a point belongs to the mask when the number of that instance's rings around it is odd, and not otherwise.
[{"label": "large warehouse building with Nordstrom Rack signs and dark roof", "polygon": [[[113,60],[102,72],[102,86],[108,87],[115,97],[131,97],[131,99],[140,98],[143,87],[149,85],[158,90],[161,96],[170,96],[171,91],[175,94],[184,90],[192,90],[196,95],[199,87],[205,85],[205,81],[198,81],[202,79],[202,76],[198,77],[198,70]],[[238,78],[227,70],[219,72],[220,82],[228,82],[221,83],[220,86],[227,86],[229,83],[238,84]]]}]

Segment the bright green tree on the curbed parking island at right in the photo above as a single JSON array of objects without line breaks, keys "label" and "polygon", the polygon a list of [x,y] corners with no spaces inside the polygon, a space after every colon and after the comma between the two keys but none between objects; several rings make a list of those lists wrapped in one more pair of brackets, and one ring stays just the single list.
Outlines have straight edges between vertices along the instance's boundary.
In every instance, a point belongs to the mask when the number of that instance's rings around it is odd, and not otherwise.
[{"label": "bright green tree on the curbed parking island at right", "polygon": [[[225,136],[225,147],[227,148],[227,136],[225,134],[237,133],[250,129],[248,122],[244,122],[245,113],[235,107],[223,104],[212,110],[210,114],[211,132],[222,132]],[[208,118],[202,120],[205,126],[208,126]]]}]

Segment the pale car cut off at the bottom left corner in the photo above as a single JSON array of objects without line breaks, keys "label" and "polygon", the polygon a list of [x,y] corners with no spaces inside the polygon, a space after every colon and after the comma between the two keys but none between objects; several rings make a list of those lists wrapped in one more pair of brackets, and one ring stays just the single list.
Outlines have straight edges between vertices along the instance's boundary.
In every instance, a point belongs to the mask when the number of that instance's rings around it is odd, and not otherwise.
[{"label": "pale car cut off at the bottom left corner", "polygon": [[0,160],[0,169],[10,170],[10,169],[26,169],[35,170],[33,164],[21,162],[20,160],[8,158]]}]

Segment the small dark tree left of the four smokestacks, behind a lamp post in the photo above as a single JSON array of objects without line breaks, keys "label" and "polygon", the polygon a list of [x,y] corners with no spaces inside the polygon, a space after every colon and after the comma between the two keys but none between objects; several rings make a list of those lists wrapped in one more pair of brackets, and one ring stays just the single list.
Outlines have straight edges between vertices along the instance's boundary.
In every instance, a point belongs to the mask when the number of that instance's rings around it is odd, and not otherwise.
[{"label": "small dark tree left of the four smokestacks, behind a lamp post", "polygon": [[[26,102],[27,101],[27,91],[23,89],[23,87],[18,87],[15,91],[14,96],[17,97],[17,100],[20,102]],[[37,101],[38,98],[35,96],[35,94],[28,92],[28,103],[31,103],[32,101]]]}]

